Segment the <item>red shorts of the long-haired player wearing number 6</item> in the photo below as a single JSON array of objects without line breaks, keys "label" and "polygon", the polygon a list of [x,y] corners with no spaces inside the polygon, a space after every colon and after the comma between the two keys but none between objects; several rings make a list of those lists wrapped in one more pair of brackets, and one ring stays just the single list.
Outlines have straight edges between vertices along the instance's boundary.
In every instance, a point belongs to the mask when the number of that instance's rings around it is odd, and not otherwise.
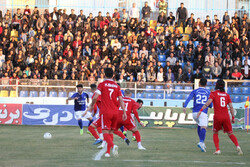
[{"label": "red shorts of the long-haired player wearing number 6", "polygon": [[229,117],[225,118],[214,118],[213,131],[218,132],[220,130],[224,131],[224,133],[232,133],[232,124]]}]

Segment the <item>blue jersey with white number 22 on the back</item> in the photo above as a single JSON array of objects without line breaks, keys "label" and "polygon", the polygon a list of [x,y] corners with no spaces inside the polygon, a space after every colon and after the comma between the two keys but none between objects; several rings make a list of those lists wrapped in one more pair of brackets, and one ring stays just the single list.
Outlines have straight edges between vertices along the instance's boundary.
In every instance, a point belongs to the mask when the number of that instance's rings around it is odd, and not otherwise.
[{"label": "blue jersey with white number 22 on the back", "polygon": [[[193,112],[199,112],[200,109],[203,107],[204,104],[206,104],[208,98],[210,95],[210,91],[205,88],[198,88],[193,90],[190,95],[188,96],[187,100],[184,103],[184,107],[186,108],[189,101],[194,98],[194,107]],[[212,107],[212,103],[209,105],[209,107]],[[204,113],[207,113],[208,108],[203,110]]]}]

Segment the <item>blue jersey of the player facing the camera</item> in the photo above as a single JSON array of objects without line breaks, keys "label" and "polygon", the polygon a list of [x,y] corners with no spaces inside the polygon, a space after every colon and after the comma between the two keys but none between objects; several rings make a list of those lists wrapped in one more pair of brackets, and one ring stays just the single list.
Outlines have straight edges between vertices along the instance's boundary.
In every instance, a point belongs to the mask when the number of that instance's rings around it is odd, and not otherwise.
[{"label": "blue jersey of the player facing the camera", "polygon": [[85,111],[87,108],[86,105],[86,99],[89,98],[89,95],[85,92],[83,92],[81,95],[79,93],[74,93],[71,98],[78,97],[77,100],[75,100],[75,111]]}]

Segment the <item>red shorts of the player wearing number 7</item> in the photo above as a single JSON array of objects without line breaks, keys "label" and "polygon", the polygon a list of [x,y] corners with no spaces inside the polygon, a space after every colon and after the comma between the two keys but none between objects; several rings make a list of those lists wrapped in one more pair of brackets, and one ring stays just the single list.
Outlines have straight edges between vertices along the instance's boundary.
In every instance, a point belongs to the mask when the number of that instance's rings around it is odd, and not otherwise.
[{"label": "red shorts of the player wearing number 7", "polygon": [[101,116],[102,130],[116,130],[118,114],[104,113]]}]

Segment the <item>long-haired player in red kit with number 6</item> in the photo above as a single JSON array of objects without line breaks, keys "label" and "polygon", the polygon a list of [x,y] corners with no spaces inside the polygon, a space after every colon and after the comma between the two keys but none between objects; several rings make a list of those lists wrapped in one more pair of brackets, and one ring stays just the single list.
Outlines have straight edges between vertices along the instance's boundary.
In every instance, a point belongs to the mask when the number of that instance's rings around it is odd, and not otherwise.
[{"label": "long-haired player in red kit with number 6", "polygon": [[235,144],[238,155],[243,155],[238,140],[236,136],[233,134],[232,124],[230,116],[228,114],[227,105],[229,105],[230,107],[230,113],[232,115],[232,123],[234,123],[234,109],[230,96],[225,92],[225,82],[221,79],[218,80],[216,83],[215,90],[216,91],[210,93],[207,103],[201,108],[197,117],[199,117],[201,112],[213,102],[214,105],[213,140],[216,148],[214,154],[221,154],[219,147],[218,132],[223,129],[224,133],[227,133],[229,138]]}]

